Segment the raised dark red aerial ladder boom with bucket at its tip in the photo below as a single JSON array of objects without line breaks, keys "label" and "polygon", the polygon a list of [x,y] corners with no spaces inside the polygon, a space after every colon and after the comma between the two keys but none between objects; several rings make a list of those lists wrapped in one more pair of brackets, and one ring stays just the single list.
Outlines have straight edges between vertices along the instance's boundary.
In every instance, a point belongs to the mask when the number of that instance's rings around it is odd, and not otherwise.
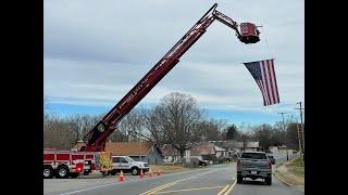
[{"label": "raised dark red aerial ladder boom with bucket at its tip", "polygon": [[86,145],[82,146],[79,151],[103,152],[109,135],[117,129],[121,119],[179,62],[181,56],[207,31],[215,20],[234,29],[237,38],[246,44],[260,41],[260,31],[254,24],[241,23],[238,25],[237,22],[219,12],[216,6],[217,3],[214,3],[145,77],[84,136],[83,140]]}]

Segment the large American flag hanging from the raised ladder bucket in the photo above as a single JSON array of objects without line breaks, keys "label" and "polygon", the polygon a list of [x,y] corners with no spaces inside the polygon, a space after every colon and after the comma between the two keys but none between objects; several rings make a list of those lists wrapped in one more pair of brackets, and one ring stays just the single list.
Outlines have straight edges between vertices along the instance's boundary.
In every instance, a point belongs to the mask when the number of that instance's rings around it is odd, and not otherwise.
[{"label": "large American flag hanging from the raised ladder bucket", "polygon": [[244,63],[251,76],[257,81],[262,96],[263,105],[279,103],[279,94],[276,86],[274,62],[272,60]]}]

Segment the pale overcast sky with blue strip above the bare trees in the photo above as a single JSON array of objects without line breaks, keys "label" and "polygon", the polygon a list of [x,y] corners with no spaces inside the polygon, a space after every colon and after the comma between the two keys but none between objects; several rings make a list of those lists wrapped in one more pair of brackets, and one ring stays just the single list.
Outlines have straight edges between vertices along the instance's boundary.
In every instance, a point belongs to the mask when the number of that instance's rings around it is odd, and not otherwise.
[{"label": "pale overcast sky with blue strip above the bare trees", "polygon": [[[278,112],[297,116],[296,102],[304,102],[303,0],[45,0],[44,90],[50,110],[108,112],[214,2],[238,23],[262,25],[261,41],[244,44],[215,21],[140,104],[182,92],[211,117],[234,123],[272,123],[282,119]],[[272,57],[281,104],[263,106],[241,63]]]}]

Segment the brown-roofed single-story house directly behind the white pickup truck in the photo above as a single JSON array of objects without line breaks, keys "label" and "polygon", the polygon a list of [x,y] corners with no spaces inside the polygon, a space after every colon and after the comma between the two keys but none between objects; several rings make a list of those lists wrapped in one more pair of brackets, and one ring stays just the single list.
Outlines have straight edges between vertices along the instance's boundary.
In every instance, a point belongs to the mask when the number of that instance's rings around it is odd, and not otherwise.
[{"label": "brown-roofed single-story house directly behind the white pickup truck", "polygon": [[[85,143],[76,143],[73,148],[79,148]],[[136,161],[162,164],[163,154],[160,147],[153,142],[107,142],[105,151],[115,156],[129,156]]]}]

